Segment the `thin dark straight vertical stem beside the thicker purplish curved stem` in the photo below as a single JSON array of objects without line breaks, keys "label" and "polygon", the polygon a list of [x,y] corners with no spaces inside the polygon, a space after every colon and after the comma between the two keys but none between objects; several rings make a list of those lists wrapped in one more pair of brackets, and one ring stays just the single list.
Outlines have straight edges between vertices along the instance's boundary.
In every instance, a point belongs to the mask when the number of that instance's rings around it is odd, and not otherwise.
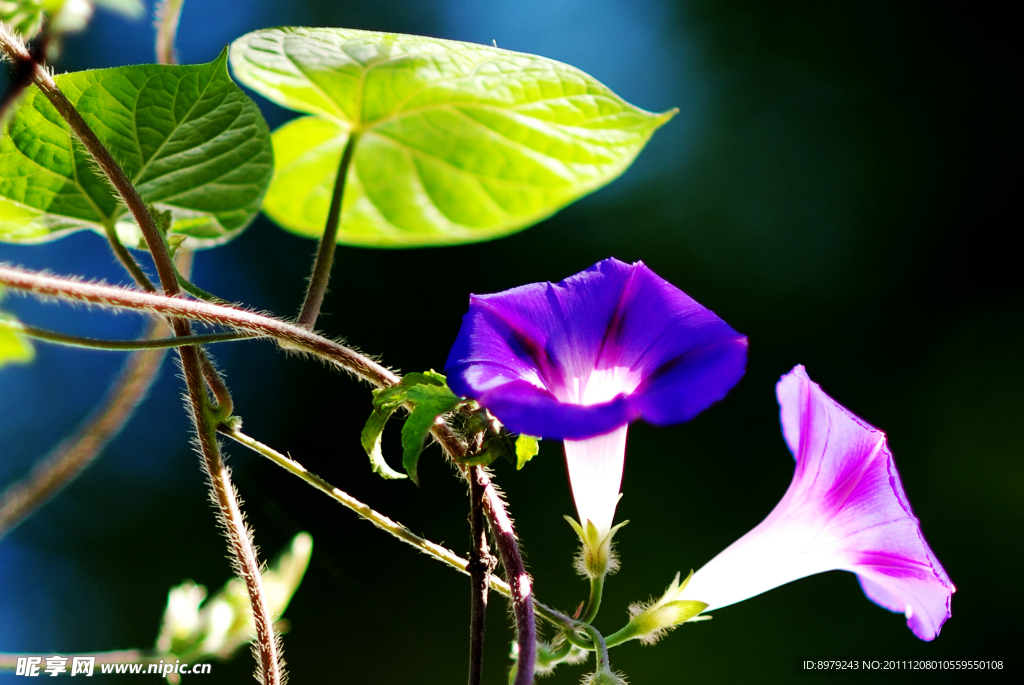
[{"label": "thin dark straight vertical stem beside the thicker purplish curved stem", "polygon": [[469,612],[469,685],[480,685],[483,678],[488,579],[497,562],[487,548],[487,529],[483,524],[484,483],[480,480],[480,467],[469,467],[469,532],[472,540],[468,564],[472,592]]}]

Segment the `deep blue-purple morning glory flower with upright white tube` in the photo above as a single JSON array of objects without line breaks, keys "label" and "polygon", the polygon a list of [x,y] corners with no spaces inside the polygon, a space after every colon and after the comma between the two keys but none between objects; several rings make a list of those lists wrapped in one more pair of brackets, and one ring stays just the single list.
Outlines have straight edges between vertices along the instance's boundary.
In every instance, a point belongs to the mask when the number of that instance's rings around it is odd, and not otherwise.
[{"label": "deep blue-purple morning glory flower with upright white tube", "polygon": [[584,528],[611,530],[631,421],[687,421],[743,375],[746,338],[643,262],[470,297],[449,385],[516,433],[565,440]]}]

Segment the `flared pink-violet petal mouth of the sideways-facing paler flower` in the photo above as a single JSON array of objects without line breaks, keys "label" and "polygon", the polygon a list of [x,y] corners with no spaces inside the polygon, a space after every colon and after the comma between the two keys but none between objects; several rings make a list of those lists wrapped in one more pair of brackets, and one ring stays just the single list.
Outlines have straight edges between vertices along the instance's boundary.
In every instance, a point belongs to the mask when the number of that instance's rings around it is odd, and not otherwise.
[{"label": "flared pink-violet petal mouth of the sideways-facing paler flower", "polygon": [[951,615],[949,576],[921,532],[885,434],[811,382],[803,367],[777,387],[783,432],[797,460],[786,494],[813,502],[822,527],[846,551],[869,599],[905,613],[923,640]]}]

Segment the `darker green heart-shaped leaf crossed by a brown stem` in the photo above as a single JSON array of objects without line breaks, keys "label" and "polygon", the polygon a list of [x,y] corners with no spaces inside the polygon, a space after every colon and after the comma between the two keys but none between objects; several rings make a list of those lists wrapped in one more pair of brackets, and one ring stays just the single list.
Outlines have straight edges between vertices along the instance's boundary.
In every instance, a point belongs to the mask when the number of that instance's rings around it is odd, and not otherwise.
[{"label": "darker green heart-shaped leaf crossed by a brown stem", "polygon": [[[273,171],[266,122],[209,65],[120,67],[56,77],[142,198],[174,217],[193,248],[230,240],[259,211]],[[0,138],[0,241],[33,243],[115,225],[137,226],[49,100],[35,87]]]}]

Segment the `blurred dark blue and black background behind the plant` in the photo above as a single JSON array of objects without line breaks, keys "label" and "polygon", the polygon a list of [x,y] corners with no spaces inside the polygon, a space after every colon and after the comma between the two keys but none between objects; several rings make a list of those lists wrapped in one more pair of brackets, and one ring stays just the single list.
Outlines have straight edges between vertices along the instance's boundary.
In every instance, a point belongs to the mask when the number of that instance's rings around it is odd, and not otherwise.
[{"label": "blurred dark blue and black background behind the plant", "polygon": [[[1010,244],[1020,226],[1010,100],[1019,76],[1005,73],[1016,61],[1016,25],[1005,9],[871,0],[186,0],[178,50],[183,62],[209,61],[238,36],[279,25],[494,40],[580,67],[647,110],[678,106],[609,187],[512,238],[430,250],[429,287],[423,252],[341,248],[321,325],[394,367],[437,369],[470,292],[560,280],[613,255],[644,260],[750,337],[746,376],[725,401],[687,425],[631,430],[620,517],[632,524],[618,537],[623,570],[598,620],[609,632],[630,602],[699,567],[784,491],[793,461],[774,383],[806,365],[826,392],[888,433],[925,534],[958,588],[953,618],[935,642],[920,642],[851,574],[834,572],[718,611],[656,647],[629,644],[611,655],[634,683],[831,682],[844,678],[796,675],[795,657],[1013,665],[1019,642],[1024,291]],[[97,12],[58,71],[153,61],[153,39],[148,19]],[[271,127],[293,116],[257,101]],[[195,280],[289,315],[314,248],[260,218],[228,246],[200,254]],[[125,280],[94,234],[2,245],[0,261]],[[144,325],[20,297],[4,306],[81,334],[131,337]],[[251,434],[466,551],[464,487],[436,448],[421,463],[421,488],[370,473],[358,443],[365,387],[266,343],[214,352]],[[0,371],[0,485],[77,425],[122,360],[39,345],[33,366]],[[151,646],[171,586],[190,577],[213,590],[228,577],[176,372],[166,361],[101,459],[0,543],[0,651]],[[395,454],[396,433],[388,447]],[[292,682],[464,680],[463,576],[255,456],[233,446],[228,454],[265,555],[298,530],[315,540],[287,614]],[[497,479],[539,596],[574,607],[585,587],[561,518],[572,504],[560,445],[543,443],[520,472],[499,465]],[[500,598],[488,622],[486,682],[501,683],[511,634]],[[205,681],[247,682],[251,669],[243,651]],[[563,667],[547,682],[574,683],[582,673]]]}]

